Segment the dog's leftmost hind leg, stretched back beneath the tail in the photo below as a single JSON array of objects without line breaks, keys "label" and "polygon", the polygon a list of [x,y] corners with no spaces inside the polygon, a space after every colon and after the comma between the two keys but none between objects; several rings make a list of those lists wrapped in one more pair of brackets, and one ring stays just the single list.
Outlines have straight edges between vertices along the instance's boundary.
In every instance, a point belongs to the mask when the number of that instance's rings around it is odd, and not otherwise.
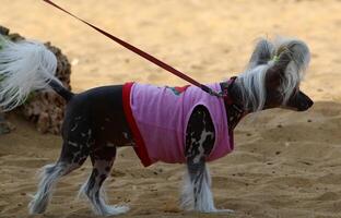
[{"label": "dog's leftmost hind leg, stretched back beneath the tail", "polygon": [[30,214],[42,214],[46,210],[58,180],[84,164],[91,146],[92,134],[87,125],[82,125],[78,131],[69,131],[63,137],[59,160],[43,168],[38,190],[28,205]]}]

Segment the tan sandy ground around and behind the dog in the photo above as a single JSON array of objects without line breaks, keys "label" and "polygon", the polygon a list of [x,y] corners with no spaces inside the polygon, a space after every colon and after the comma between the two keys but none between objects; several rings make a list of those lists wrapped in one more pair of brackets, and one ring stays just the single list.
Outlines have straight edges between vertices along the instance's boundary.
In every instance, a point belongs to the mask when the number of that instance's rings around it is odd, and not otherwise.
[{"label": "tan sandy ground around and behind the dog", "polygon": [[[341,217],[340,0],[56,2],[203,83],[243,71],[258,37],[295,36],[313,53],[302,89],[314,107],[248,116],[235,130],[235,152],[210,164],[216,206],[235,214],[181,211],[184,166],[143,169],[132,149],[122,148],[106,182],[111,204],[131,206],[119,217]],[[74,92],[126,81],[186,84],[43,1],[1,0],[0,22],[60,47],[73,64]],[[36,172],[58,158],[61,140],[15,114],[9,120],[16,129],[0,136],[0,217],[24,218]],[[77,199],[90,171],[87,161],[63,178],[46,214],[36,217],[94,217]]]}]

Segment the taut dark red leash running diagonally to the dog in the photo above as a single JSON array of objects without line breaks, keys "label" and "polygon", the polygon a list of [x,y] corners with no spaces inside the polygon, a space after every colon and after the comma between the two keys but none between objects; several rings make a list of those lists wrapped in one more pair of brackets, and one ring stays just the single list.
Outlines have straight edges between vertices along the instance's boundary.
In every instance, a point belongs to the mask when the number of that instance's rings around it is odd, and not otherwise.
[{"label": "taut dark red leash running diagonally to the dog", "polygon": [[185,80],[185,81],[187,81],[187,82],[189,82],[189,83],[191,83],[191,84],[193,84],[193,85],[200,87],[202,90],[209,93],[210,95],[217,96],[217,97],[222,97],[222,94],[212,90],[210,87],[208,87],[208,86],[205,86],[205,85],[203,85],[203,84],[197,82],[196,80],[189,77],[189,76],[186,75],[185,73],[181,73],[180,71],[178,71],[178,70],[176,70],[175,68],[168,65],[167,63],[165,63],[165,62],[158,60],[157,58],[155,58],[155,57],[153,57],[153,56],[146,53],[145,51],[142,51],[141,49],[139,49],[139,48],[137,48],[137,47],[134,47],[134,46],[132,46],[132,45],[130,45],[130,44],[128,44],[128,43],[126,43],[126,41],[124,41],[124,40],[117,38],[116,36],[113,36],[111,34],[109,34],[109,33],[107,33],[107,32],[105,32],[105,31],[103,31],[103,29],[101,29],[101,28],[98,28],[98,27],[92,25],[91,23],[89,23],[89,22],[86,22],[86,21],[84,21],[84,20],[78,17],[77,15],[73,15],[72,13],[70,13],[70,12],[68,12],[67,10],[60,8],[59,5],[57,5],[56,3],[54,3],[52,1],[50,1],[50,0],[43,0],[43,1],[45,1],[45,2],[47,2],[47,3],[49,3],[49,4],[51,4],[52,7],[55,7],[55,8],[59,9],[59,10],[63,11],[64,13],[67,13],[67,14],[71,15],[71,16],[73,16],[74,19],[77,19],[77,20],[83,22],[84,24],[89,25],[90,27],[94,28],[95,31],[99,32],[101,34],[103,34],[103,35],[105,35],[106,37],[110,38],[111,40],[116,41],[117,44],[124,46],[125,48],[131,50],[132,52],[134,52],[134,53],[141,56],[142,58],[144,58],[144,59],[151,61],[152,63],[158,65],[160,68],[162,68],[162,69],[164,69],[164,70],[166,70],[166,71],[173,73],[174,75],[176,75],[176,76],[178,76],[178,77],[180,77],[180,78],[183,78],[183,80]]}]

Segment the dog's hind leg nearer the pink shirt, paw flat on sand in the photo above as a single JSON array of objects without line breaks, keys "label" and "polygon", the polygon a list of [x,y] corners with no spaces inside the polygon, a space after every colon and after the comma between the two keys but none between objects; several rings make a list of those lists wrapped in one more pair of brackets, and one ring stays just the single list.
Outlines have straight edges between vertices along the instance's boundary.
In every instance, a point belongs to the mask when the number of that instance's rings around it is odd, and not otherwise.
[{"label": "dog's hind leg nearer the pink shirt, paw flat on sand", "polygon": [[105,179],[110,173],[115,157],[116,147],[110,143],[104,147],[96,148],[95,152],[91,154],[93,170],[87,182],[82,185],[80,193],[87,196],[96,215],[113,216],[129,210],[127,206],[107,205],[105,203],[105,193],[103,189],[101,189]]}]

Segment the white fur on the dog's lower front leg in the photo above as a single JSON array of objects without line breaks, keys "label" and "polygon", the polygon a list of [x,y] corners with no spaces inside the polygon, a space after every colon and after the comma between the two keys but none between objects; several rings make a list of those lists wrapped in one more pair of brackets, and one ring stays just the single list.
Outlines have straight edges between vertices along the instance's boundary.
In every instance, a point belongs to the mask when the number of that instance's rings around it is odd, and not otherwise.
[{"label": "white fur on the dog's lower front leg", "polygon": [[185,175],[183,193],[180,197],[180,206],[186,210],[197,210],[201,213],[233,213],[231,209],[216,209],[214,206],[213,195],[211,192],[211,178],[208,168],[203,172],[200,192],[197,195],[195,203],[193,183],[190,181],[188,173]]}]

